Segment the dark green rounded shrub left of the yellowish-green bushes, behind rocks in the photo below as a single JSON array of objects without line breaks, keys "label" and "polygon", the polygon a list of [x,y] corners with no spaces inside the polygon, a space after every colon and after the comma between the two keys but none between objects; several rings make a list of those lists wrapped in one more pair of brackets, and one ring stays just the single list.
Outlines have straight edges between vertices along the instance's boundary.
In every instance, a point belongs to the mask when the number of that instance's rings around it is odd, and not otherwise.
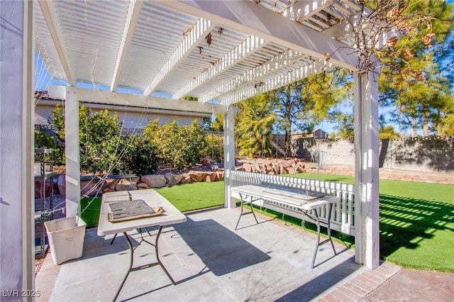
[{"label": "dark green rounded shrub left of the yellowish-green bushes, behind rocks", "polygon": [[156,148],[148,138],[142,136],[123,137],[118,145],[118,174],[153,174],[157,170]]}]

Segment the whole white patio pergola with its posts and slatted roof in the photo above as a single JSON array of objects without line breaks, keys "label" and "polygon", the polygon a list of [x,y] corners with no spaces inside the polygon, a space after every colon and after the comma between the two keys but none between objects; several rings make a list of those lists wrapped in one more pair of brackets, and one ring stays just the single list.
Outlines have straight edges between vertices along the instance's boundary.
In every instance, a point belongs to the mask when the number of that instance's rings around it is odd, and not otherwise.
[{"label": "whole white patio pergola with its posts and slatted roof", "polygon": [[[355,259],[377,267],[377,82],[370,72],[358,70],[358,55],[351,49],[351,24],[359,12],[353,0],[1,0],[2,289],[34,286],[35,53],[54,79],[67,82],[51,87],[50,94],[65,99],[69,216],[79,210],[79,101],[224,113],[225,205],[232,208],[232,105],[323,68],[352,70]],[[83,89],[82,83],[109,89]],[[198,101],[183,101],[184,96]]]}]

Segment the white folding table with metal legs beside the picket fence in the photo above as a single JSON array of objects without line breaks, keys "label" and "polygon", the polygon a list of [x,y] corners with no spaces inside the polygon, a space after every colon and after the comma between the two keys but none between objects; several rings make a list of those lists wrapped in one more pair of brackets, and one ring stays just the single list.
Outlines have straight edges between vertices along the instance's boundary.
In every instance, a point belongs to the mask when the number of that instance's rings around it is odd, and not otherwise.
[{"label": "white folding table with metal legs beside the picket fence", "polygon": [[[302,215],[310,218],[311,220],[314,220],[317,226],[317,242],[314,250],[314,257],[312,258],[311,268],[314,268],[317,251],[319,250],[320,245],[323,245],[326,242],[331,242],[334,255],[336,255],[336,249],[334,248],[333,240],[331,239],[330,220],[333,203],[339,201],[338,197],[311,193],[309,191],[295,192],[282,188],[276,189],[258,185],[234,186],[231,188],[231,192],[238,194],[241,201],[240,216],[238,217],[235,229],[238,228],[241,216],[247,214],[243,213],[244,204],[250,204],[251,211],[248,213],[253,213],[256,223],[258,223],[258,220],[255,217],[253,203],[260,201],[259,204],[265,208],[267,207],[267,204],[278,208],[292,208],[293,210],[301,212]],[[325,205],[328,205],[328,240],[320,242],[320,218],[317,210]]]}]

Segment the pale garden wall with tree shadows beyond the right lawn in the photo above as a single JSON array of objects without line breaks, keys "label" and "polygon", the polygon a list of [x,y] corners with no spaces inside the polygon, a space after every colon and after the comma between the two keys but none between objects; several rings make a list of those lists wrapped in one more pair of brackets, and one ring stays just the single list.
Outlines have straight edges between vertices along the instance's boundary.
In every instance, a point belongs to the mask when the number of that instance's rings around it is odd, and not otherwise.
[{"label": "pale garden wall with tree shadows beyond the right lawn", "polygon": [[[325,164],[355,164],[353,139],[297,138],[292,153],[313,160],[323,152]],[[380,167],[420,172],[454,172],[454,138],[380,140]]]}]

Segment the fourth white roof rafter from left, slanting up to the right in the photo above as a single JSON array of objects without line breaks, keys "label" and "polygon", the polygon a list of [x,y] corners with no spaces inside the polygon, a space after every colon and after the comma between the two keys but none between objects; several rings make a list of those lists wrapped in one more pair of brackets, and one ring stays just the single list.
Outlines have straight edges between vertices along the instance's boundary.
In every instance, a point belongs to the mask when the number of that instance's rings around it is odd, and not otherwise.
[{"label": "fourth white roof rafter from left, slanting up to the right", "polygon": [[[196,89],[198,86],[201,86],[210,79],[213,79],[218,74],[226,72],[241,60],[245,60],[245,58],[260,50],[266,44],[267,43],[265,42],[265,40],[251,35],[238,46],[233,48],[233,50],[221,57],[221,59],[218,60],[216,64],[212,65],[211,67],[209,67],[209,69],[206,69],[205,72],[202,72],[191,82],[184,85],[182,89],[179,89],[179,91],[177,91],[177,93],[172,96],[172,98],[181,99],[183,96],[189,94],[189,92]],[[199,101],[204,100],[199,99]]]}]

